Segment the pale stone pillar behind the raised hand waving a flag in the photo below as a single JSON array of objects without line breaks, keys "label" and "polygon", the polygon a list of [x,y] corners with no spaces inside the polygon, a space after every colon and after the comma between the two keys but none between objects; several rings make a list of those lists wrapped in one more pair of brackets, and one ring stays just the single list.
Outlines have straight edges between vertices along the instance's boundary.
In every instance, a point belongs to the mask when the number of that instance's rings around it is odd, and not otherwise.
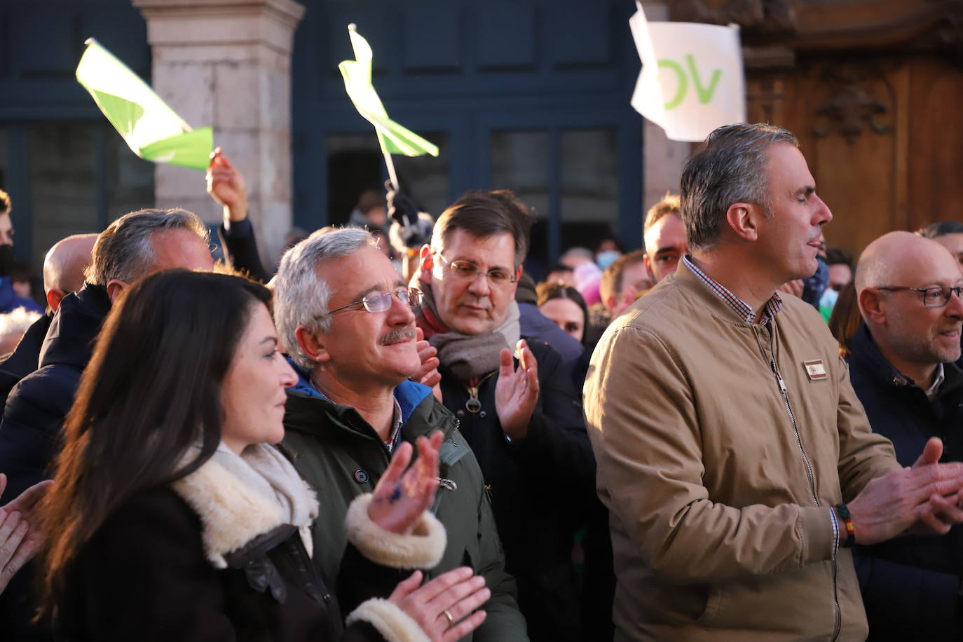
[{"label": "pale stone pillar behind the raised hand waving a flag", "polygon": [[[244,174],[265,266],[282,249],[291,215],[291,49],[304,7],[294,0],[132,0],[147,21],[152,86]],[[218,223],[221,207],[201,172],[158,165],[157,207]]]}]

